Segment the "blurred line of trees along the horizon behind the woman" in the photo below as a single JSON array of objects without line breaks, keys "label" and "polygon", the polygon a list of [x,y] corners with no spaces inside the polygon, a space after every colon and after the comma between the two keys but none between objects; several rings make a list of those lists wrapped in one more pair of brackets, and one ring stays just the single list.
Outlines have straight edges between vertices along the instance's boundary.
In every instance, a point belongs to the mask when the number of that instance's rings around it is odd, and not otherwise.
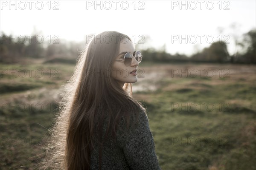
[{"label": "blurred line of trees along the horizon behind the woman", "polygon": [[[38,40],[39,39],[39,40]],[[42,42],[42,36],[13,36],[3,32],[0,36],[0,62],[15,63],[24,58],[46,59],[51,62],[76,63],[76,58],[85,46],[84,42],[65,42],[63,40]],[[242,49],[230,55],[227,44],[223,41],[213,42],[202,51],[186,56],[184,54],[169,54],[163,50],[147,48],[142,50],[144,61],[153,62],[230,62],[256,63],[256,30],[243,35],[243,40],[236,45]]]}]

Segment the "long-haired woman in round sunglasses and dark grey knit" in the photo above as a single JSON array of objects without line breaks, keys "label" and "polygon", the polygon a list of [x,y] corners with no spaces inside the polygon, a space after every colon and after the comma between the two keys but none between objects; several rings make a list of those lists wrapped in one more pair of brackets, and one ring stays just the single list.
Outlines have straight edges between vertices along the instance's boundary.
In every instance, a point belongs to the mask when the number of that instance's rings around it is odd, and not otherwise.
[{"label": "long-haired woman in round sunglasses and dark grey knit", "polygon": [[48,166],[160,170],[145,109],[132,98],[141,59],[131,39],[119,32],[105,31],[90,41],[61,102]]}]

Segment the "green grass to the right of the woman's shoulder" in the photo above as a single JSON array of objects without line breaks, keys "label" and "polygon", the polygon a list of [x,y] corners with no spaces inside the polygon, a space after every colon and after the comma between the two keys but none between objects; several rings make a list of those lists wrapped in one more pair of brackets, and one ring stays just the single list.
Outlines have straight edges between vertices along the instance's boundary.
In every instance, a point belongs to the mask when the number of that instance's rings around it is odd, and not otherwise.
[{"label": "green grass to the right of the woman's shoulder", "polygon": [[147,107],[163,170],[256,169],[256,87],[244,80],[165,77],[154,96],[135,95]]}]

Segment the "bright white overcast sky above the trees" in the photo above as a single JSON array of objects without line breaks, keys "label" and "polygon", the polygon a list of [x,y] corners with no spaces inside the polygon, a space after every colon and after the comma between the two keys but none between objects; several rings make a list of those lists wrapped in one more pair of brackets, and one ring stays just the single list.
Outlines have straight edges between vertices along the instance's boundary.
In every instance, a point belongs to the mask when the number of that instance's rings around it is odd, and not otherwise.
[{"label": "bright white overcast sky above the trees", "polygon": [[[256,0],[0,0],[0,31],[86,42],[103,31],[131,37],[136,50],[165,48],[191,55],[256,28]],[[1,34],[2,36],[2,34]]]}]

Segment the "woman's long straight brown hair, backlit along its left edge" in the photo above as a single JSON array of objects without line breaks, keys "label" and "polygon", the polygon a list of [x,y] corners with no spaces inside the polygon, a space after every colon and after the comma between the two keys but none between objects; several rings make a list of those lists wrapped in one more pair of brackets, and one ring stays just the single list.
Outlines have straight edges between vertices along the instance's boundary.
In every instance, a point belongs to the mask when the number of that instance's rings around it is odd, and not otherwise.
[{"label": "woman's long straight brown hair, backlit along its left edge", "polygon": [[[140,110],[144,109],[132,98],[132,84],[125,83],[120,87],[110,74],[123,37],[131,41],[116,31],[102,32],[80,55],[51,130],[45,169],[89,170],[90,154],[96,141],[100,146],[101,167],[102,144],[108,133],[115,137],[122,116],[125,116],[128,127],[129,115],[133,113],[133,118],[138,118]],[[108,126],[103,139],[102,126],[106,115]]]}]

